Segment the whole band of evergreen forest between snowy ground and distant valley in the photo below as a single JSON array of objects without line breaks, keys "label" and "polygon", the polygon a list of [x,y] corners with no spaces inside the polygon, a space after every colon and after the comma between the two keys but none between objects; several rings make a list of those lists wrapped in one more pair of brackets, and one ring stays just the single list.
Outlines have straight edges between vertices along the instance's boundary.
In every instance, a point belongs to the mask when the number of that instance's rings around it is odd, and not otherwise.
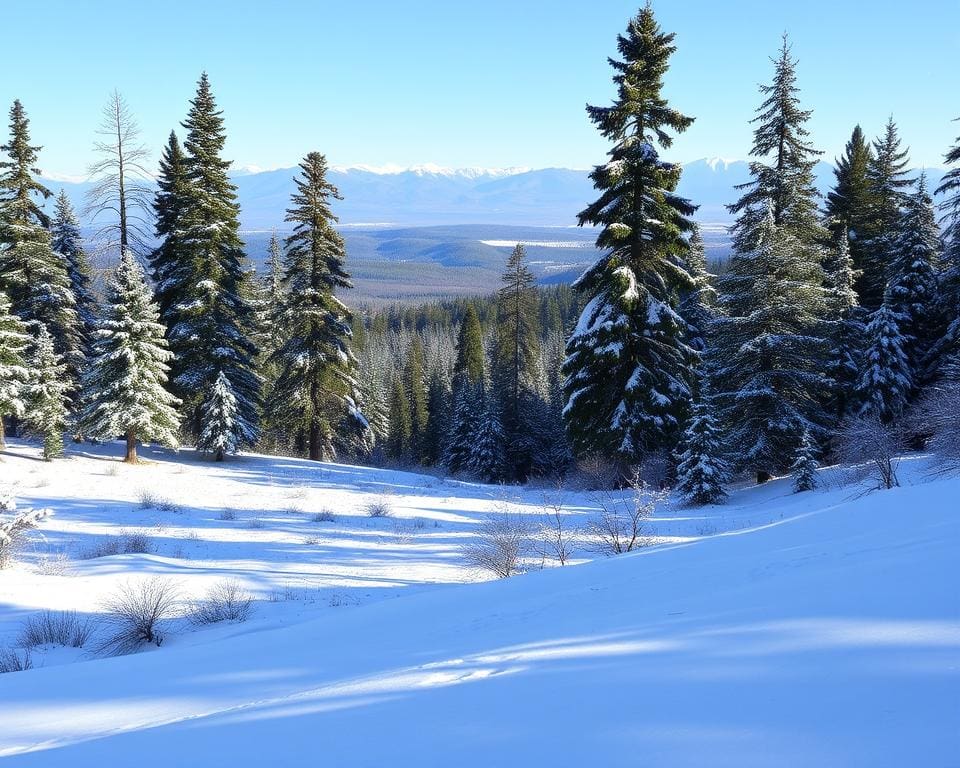
[{"label": "whole band of evergreen forest between snowy ground and distant valley", "polygon": [[155,173],[123,99],[108,104],[86,213],[116,268],[95,290],[76,212],[62,193],[53,215],[44,205],[16,101],[0,161],[0,448],[5,428],[48,459],[65,434],[122,436],[131,462],[139,442],[183,442],[214,460],[259,450],[489,482],[599,462],[713,503],[735,477],[793,471],[805,490],[871,441],[922,446],[960,386],[960,139],[930,189],[893,118],[872,141],[856,126],[821,199],[785,36],[730,206],[734,252],[712,275],[696,201],[662,156],[694,120],[663,95],[673,52],[642,9],[610,60],[615,100],[587,108],[610,150],[579,224],[602,255],[572,287],[538,287],[518,243],[487,298],[379,310],[348,306],[319,152],[267,268],[251,269],[206,74]]}]

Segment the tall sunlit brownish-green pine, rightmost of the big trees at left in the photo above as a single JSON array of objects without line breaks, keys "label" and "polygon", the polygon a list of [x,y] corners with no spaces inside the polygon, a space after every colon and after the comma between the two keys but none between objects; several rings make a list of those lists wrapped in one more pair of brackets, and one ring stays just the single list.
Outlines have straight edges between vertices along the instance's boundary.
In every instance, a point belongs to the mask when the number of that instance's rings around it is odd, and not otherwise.
[{"label": "tall sunlit brownish-green pine, rightmost of the big trees at left", "polygon": [[285,219],[294,229],[285,241],[285,295],[276,322],[287,338],[275,354],[280,373],[272,396],[306,429],[309,457],[319,461],[343,419],[360,432],[369,425],[356,407],[350,311],[334,295],[351,287],[343,238],[330,209],[340,193],[327,180],[327,162],[319,152],[307,155],[300,172]]}]

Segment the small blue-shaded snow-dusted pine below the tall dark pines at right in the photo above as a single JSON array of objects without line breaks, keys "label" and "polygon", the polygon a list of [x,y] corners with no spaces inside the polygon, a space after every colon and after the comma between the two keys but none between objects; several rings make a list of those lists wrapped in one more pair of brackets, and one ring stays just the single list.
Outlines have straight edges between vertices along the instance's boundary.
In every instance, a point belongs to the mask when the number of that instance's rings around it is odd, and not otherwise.
[{"label": "small blue-shaded snow-dusted pine below the tall dark pines at right", "polygon": [[903,411],[913,386],[906,347],[911,339],[900,331],[906,318],[885,301],[867,324],[867,349],[857,380],[861,416],[874,416],[883,423]]}]

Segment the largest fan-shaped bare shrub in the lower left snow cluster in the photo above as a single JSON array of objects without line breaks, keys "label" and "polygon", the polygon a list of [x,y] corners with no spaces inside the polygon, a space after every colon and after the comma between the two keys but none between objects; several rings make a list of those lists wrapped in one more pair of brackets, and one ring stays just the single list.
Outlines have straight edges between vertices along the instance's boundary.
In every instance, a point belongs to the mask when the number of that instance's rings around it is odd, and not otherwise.
[{"label": "largest fan-shaped bare shrub in the lower left snow cluster", "polygon": [[159,576],[122,585],[103,604],[107,636],[97,650],[125,654],[148,643],[159,646],[162,622],[173,615],[178,597],[177,586]]}]

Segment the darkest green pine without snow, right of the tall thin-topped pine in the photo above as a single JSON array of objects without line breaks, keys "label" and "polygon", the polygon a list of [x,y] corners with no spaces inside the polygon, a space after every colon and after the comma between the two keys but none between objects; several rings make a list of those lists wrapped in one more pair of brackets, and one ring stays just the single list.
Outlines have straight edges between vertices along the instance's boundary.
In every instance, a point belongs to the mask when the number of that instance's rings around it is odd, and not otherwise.
[{"label": "darkest green pine without snow, right of the tall thin-topped pine", "polygon": [[835,162],[836,182],[827,193],[826,217],[835,246],[846,242],[853,268],[858,272],[857,296],[864,286],[859,282],[866,261],[865,248],[871,230],[873,193],[868,171],[873,151],[858,125],[847,142],[843,157]]}]

